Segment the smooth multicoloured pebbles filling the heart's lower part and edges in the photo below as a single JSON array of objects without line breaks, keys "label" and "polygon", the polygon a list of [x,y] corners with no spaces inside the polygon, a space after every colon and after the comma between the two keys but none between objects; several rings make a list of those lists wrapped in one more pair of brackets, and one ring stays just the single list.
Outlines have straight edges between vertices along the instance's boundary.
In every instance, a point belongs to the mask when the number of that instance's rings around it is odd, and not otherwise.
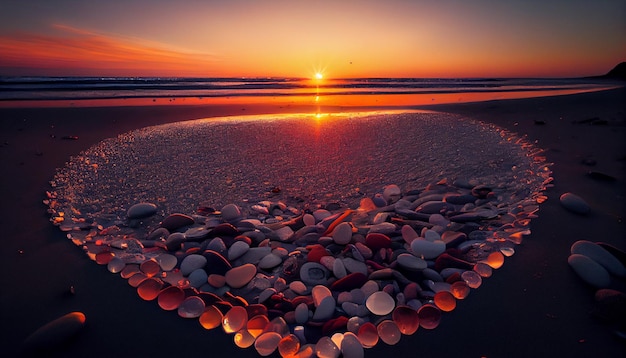
[{"label": "smooth multicoloured pebbles filling the heart's lower part and edges", "polygon": [[221,327],[238,347],[362,357],[380,341],[436,328],[530,233],[549,164],[522,139],[506,140],[528,153],[529,169],[516,179],[529,190],[444,178],[417,189],[387,185],[352,206],[270,195],[193,212],[139,201],[94,217],[84,212],[94,204],[72,205],[57,178],[45,203],[69,239],[142,299]]}]

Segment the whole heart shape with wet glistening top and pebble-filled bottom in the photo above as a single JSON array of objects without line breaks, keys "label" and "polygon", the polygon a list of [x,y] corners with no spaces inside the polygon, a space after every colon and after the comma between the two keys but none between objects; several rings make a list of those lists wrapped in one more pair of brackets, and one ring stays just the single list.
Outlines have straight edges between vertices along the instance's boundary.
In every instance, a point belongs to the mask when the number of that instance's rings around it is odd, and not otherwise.
[{"label": "whole heart shape with wet glistening top and pebble-filled bottom", "polygon": [[514,253],[548,167],[448,114],[239,117],[105,140],[45,203],[163,310],[262,356],[359,357],[436,328]]}]

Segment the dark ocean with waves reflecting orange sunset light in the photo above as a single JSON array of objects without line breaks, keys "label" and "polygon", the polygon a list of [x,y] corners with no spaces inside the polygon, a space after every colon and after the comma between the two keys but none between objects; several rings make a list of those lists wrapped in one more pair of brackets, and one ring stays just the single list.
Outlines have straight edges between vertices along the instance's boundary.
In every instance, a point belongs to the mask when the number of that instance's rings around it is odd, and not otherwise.
[{"label": "dark ocean with waves reflecting orange sunset light", "polygon": [[[476,95],[520,98],[583,92],[611,85],[599,78],[167,78],[0,77],[0,105],[45,101],[48,105],[95,103],[212,104],[322,102],[353,105],[383,102],[424,104],[444,96],[467,101]],[[357,103],[354,98],[358,98]],[[95,102],[94,102],[95,101]],[[380,104],[380,103],[378,103]]]}]

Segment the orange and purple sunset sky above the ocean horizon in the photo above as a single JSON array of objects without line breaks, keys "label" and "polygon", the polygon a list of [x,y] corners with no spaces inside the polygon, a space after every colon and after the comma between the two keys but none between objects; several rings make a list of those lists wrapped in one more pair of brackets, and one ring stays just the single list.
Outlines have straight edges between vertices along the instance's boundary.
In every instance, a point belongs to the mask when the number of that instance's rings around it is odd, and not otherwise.
[{"label": "orange and purple sunset sky above the ocean horizon", "polygon": [[0,76],[578,77],[624,0],[0,0]]}]

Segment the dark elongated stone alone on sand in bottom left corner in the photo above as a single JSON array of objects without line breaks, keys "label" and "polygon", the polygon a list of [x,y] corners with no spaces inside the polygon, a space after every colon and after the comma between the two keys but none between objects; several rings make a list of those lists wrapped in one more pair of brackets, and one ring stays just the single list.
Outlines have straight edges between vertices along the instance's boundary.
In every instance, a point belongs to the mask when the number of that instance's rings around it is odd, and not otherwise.
[{"label": "dark elongated stone alone on sand in bottom left corner", "polygon": [[71,312],[38,328],[24,340],[26,351],[46,351],[59,347],[76,336],[85,326],[82,312]]}]

